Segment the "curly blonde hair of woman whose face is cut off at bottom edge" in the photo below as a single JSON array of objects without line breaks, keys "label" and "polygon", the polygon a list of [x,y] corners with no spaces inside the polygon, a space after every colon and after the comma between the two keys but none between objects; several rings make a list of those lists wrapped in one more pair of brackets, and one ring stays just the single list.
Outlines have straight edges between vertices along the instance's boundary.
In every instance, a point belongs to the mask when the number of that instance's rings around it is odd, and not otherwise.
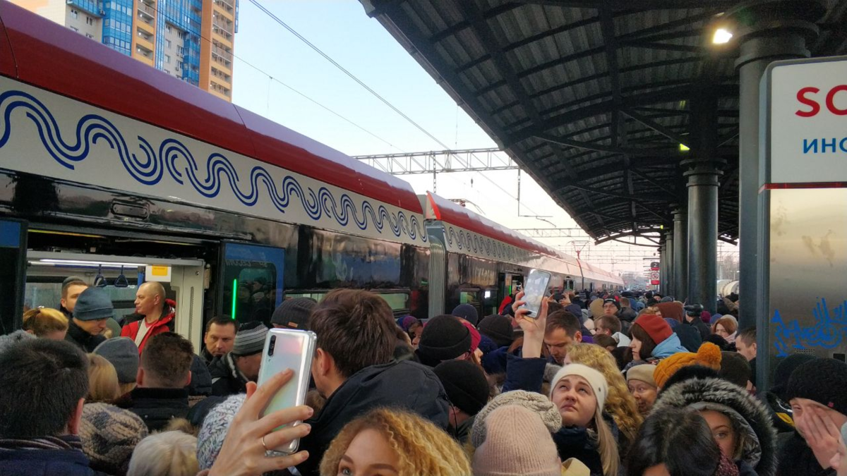
[{"label": "curly blonde hair of woman whose face is cut off at bottom edge", "polygon": [[459,444],[433,423],[410,412],[377,408],[347,423],[332,440],[320,463],[321,476],[335,476],[341,457],[356,435],[375,429],[400,460],[399,476],[466,476],[470,462]]}]

